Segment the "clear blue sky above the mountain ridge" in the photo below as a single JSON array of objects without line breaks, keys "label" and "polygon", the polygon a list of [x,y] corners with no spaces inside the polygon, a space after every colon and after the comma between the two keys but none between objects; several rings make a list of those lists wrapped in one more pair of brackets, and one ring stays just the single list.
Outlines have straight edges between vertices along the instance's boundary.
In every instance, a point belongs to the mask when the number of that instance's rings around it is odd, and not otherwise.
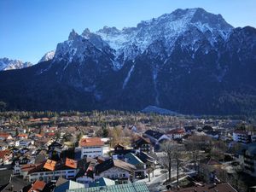
[{"label": "clear blue sky above the mountain ridge", "polygon": [[0,0],[0,58],[36,63],[72,29],[136,26],[196,7],[223,15],[232,26],[256,26],[255,0]]}]

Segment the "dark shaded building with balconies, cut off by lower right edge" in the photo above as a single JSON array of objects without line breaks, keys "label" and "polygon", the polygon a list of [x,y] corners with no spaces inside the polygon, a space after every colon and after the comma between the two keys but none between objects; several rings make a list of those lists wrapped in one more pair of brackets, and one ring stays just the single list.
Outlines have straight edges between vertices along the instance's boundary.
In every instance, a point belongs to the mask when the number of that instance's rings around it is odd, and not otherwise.
[{"label": "dark shaded building with balconies, cut off by lower right edge", "polygon": [[244,167],[244,172],[256,177],[256,143],[248,144],[242,153],[239,154],[239,160]]}]

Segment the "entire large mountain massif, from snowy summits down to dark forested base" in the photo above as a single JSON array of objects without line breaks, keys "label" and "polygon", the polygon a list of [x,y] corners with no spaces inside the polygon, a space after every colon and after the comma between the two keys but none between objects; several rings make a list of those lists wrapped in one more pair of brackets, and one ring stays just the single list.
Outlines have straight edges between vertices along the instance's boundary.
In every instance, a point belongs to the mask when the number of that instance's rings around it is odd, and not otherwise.
[{"label": "entire large mountain massif, from snowy summits down to dark forested base", "polygon": [[177,9],[122,30],[73,30],[37,65],[0,72],[0,101],[18,110],[255,113],[255,73],[255,28]]}]

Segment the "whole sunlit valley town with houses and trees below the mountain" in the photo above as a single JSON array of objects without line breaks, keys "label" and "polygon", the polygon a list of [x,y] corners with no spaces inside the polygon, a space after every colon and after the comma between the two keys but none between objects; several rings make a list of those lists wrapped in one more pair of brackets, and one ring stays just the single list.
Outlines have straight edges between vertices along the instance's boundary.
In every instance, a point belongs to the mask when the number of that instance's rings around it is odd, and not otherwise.
[{"label": "whole sunlit valley town with houses and trees below the mountain", "polygon": [[4,192],[255,191],[255,157],[246,118],[0,113]]}]

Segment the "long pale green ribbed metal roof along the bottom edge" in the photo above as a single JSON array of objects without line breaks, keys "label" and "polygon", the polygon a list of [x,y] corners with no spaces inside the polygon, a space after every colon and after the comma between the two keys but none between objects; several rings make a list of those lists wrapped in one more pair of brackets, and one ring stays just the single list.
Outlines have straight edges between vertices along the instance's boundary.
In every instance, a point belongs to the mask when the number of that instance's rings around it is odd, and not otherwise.
[{"label": "long pale green ribbed metal roof along the bottom edge", "polygon": [[93,188],[84,188],[84,189],[70,189],[66,192],[149,192],[148,186],[146,183],[138,182],[138,183],[125,183],[111,186],[99,186]]}]

